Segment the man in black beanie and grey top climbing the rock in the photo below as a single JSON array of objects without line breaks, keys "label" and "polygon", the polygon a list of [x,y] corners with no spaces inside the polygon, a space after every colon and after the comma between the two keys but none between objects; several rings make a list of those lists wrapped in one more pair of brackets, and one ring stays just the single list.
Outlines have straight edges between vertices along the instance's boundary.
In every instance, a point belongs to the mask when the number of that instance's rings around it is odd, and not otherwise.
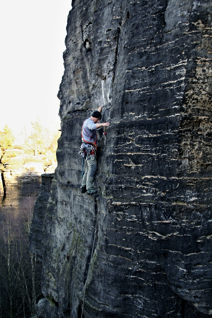
[{"label": "man in black beanie and grey top climbing the rock", "polygon": [[[82,145],[80,148],[80,155],[83,155],[86,163],[86,170],[82,172],[83,179],[81,185],[81,192],[85,193],[87,191],[88,194],[95,194],[97,190],[94,189],[94,176],[97,169],[96,162],[96,153],[97,153],[97,135],[96,129],[110,125],[109,122],[99,121],[102,118],[101,115],[102,107],[100,106],[98,111],[93,112],[90,118],[86,119],[82,125],[81,137],[82,137]],[[83,160],[83,159],[82,159]]]}]

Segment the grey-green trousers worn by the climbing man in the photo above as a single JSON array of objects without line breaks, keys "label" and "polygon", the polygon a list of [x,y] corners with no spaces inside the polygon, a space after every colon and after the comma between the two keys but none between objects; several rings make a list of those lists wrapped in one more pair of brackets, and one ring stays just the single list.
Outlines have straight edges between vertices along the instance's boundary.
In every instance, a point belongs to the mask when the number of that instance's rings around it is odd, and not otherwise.
[{"label": "grey-green trousers worn by the climbing man", "polygon": [[81,188],[86,185],[87,190],[94,189],[94,176],[97,169],[96,157],[94,156],[94,160],[92,160],[91,158],[92,156],[90,156],[90,158],[87,158],[87,160],[85,161],[86,170],[82,178],[82,185],[81,185]]}]

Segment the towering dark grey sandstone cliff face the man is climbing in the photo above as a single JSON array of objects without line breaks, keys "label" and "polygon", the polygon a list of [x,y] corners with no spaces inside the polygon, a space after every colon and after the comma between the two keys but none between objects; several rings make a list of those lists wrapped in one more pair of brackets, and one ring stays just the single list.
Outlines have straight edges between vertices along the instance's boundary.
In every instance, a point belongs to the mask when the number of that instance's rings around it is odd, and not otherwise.
[{"label": "towering dark grey sandstone cliff face the man is climbing", "polygon": [[[85,317],[212,314],[211,14],[211,0],[72,1],[58,168],[33,230],[53,316],[80,316],[97,211]],[[78,152],[99,106],[95,198]]]}]

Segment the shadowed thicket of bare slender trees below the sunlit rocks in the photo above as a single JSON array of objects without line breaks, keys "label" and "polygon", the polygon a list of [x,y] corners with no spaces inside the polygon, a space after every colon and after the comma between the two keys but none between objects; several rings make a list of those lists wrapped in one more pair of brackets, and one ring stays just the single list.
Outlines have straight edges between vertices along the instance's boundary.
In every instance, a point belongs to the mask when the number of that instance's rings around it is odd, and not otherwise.
[{"label": "shadowed thicket of bare slender trees below the sunlit rocks", "polygon": [[37,255],[29,250],[35,199],[36,195],[24,198],[16,217],[7,209],[1,215],[0,318],[27,317],[36,313],[35,305],[41,296],[42,266]]}]

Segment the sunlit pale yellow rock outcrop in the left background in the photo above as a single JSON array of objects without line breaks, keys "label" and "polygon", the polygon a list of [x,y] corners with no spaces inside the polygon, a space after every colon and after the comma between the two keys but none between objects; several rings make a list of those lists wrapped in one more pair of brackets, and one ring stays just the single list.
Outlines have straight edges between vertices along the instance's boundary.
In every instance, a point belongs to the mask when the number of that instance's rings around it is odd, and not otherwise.
[{"label": "sunlit pale yellow rock outcrop in the left background", "polygon": [[[45,155],[34,156],[29,146],[17,146],[7,149],[1,157],[1,179],[3,196],[1,207],[7,206],[18,212],[22,199],[32,193],[38,194],[41,174],[54,172],[57,162],[51,151]],[[1,188],[0,188],[1,190]]]}]

